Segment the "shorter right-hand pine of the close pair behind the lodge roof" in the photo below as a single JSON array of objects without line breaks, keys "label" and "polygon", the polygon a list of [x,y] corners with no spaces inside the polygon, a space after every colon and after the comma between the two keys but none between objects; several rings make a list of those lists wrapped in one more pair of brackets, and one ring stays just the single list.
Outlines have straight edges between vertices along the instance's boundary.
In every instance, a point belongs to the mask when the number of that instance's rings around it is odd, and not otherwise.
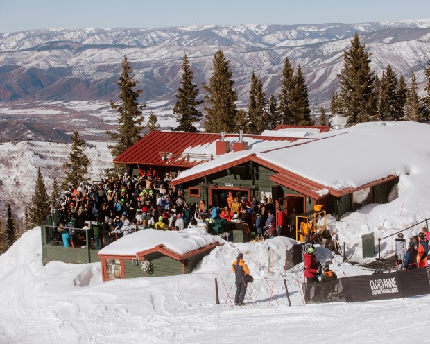
[{"label": "shorter right-hand pine of the close pair behind the lodge roof", "polygon": [[291,90],[291,118],[293,123],[300,126],[312,126],[311,110],[309,109],[309,99],[307,95],[307,86],[304,83],[302,67],[298,65],[293,78],[293,89]]}]

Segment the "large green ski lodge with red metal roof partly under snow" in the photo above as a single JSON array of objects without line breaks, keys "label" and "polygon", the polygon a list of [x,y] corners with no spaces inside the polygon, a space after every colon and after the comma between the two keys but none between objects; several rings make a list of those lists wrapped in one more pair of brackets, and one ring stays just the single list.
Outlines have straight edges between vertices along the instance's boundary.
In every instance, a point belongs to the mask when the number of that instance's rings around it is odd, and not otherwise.
[{"label": "large green ski lodge with red metal roof partly under snow", "polygon": [[168,174],[189,203],[203,199],[218,206],[233,191],[257,200],[271,197],[287,214],[323,205],[340,218],[363,205],[388,202],[401,162],[384,152],[402,146],[403,127],[411,125],[278,126],[262,135],[150,132],[114,163],[136,175],[138,166]]}]

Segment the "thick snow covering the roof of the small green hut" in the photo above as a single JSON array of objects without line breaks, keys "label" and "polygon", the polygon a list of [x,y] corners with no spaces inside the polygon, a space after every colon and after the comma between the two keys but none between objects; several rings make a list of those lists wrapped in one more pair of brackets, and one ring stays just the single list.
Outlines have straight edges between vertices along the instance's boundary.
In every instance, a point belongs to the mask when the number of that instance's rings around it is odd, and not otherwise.
[{"label": "thick snow covering the roof of the small green hut", "polygon": [[148,229],[123,236],[98,251],[98,255],[132,256],[159,245],[164,245],[178,255],[184,255],[217,242],[216,236],[198,227],[178,232]]}]

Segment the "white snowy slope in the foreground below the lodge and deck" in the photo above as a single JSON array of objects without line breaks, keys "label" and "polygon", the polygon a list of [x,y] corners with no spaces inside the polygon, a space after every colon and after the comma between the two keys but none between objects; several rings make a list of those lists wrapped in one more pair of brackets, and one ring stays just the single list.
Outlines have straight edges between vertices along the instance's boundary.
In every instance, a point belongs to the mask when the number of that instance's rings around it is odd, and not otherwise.
[{"label": "white snowy slope in the foreground below the lodge and deck", "polygon": [[[269,244],[273,273],[267,271]],[[303,264],[283,272],[289,246],[286,238],[225,243],[190,275],[101,282],[100,263],[42,266],[36,227],[0,256],[0,343],[279,343],[288,338],[291,343],[359,344],[376,337],[396,344],[411,338],[405,319],[427,326],[430,296],[304,306],[298,287]],[[230,297],[235,291],[230,266],[238,252],[255,278],[250,284],[254,304],[249,300],[246,307],[232,307],[227,300],[227,291]],[[317,248],[318,259],[327,257],[327,250]],[[339,277],[371,272],[338,257],[332,267]]]}]

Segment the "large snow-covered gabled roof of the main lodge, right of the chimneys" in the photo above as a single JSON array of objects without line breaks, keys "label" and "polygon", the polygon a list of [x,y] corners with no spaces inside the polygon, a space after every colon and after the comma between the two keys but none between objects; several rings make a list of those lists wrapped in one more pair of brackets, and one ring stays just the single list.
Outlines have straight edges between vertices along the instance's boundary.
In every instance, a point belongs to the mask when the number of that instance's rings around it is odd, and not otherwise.
[{"label": "large snow-covered gabled roof of the main lodge, right of the chimneys", "polygon": [[318,133],[278,148],[227,153],[216,160],[184,171],[175,183],[245,157],[295,173],[325,187],[341,190],[418,171],[430,163],[430,126],[424,123],[369,122],[342,130]]}]

